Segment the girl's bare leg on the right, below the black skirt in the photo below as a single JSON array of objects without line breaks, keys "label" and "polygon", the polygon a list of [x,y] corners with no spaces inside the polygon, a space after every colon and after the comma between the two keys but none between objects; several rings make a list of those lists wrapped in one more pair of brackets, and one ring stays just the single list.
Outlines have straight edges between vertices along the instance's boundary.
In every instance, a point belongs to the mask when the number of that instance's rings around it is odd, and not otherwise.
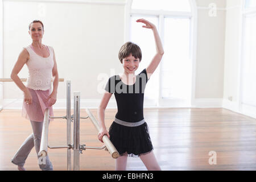
[{"label": "girl's bare leg on the right, below the black skirt", "polygon": [[141,155],[141,156],[139,156],[139,158],[141,158],[142,162],[144,163],[144,165],[146,166],[148,171],[160,171],[161,170],[158,162],[156,161],[153,151],[146,155]]}]

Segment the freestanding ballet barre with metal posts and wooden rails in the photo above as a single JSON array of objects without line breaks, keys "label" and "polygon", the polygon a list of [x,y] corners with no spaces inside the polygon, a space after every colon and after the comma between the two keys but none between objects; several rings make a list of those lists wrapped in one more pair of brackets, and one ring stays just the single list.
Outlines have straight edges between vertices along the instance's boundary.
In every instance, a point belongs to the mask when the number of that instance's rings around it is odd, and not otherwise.
[{"label": "freestanding ballet barre with metal posts and wooden rails", "polygon": [[[80,170],[80,154],[82,154],[82,150],[86,149],[96,149],[102,150],[105,147],[108,149],[112,158],[116,159],[119,157],[117,150],[115,149],[112,142],[110,142],[109,138],[104,135],[102,138],[104,142],[104,146],[102,147],[87,147],[85,144],[80,145],[80,118],[87,119],[93,122],[97,131],[100,131],[100,125],[98,121],[94,118],[93,114],[90,113],[89,109],[86,109],[87,117],[80,117],[80,92],[74,92],[74,114],[71,115],[71,81],[67,81],[67,115],[63,117],[51,117],[51,118],[61,118],[67,119],[67,146],[49,146],[48,145],[48,120],[49,120],[49,109],[46,109],[44,113],[44,123],[43,123],[43,131],[42,131],[42,141],[40,144],[40,151],[38,153],[39,156],[47,155],[47,147],[48,148],[67,148],[67,170],[71,171],[71,150],[73,149],[73,170]],[[48,119],[47,119],[48,118]],[[73,127],[73,145],[71,144],[71,122],[74,122]]]}]

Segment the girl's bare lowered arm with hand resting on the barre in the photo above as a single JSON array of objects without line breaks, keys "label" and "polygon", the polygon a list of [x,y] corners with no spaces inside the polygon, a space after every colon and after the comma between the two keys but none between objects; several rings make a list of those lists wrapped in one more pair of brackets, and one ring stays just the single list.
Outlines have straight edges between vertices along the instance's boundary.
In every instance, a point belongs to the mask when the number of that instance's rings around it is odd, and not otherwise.
[{"label": "girl's bare lowered arm with hand resting on the barre", "polygon": [[99,119],[100,127],[101,127],[101,130],[98,133],[98,139],[101,142],[103,142],[102,137],[104,135],[107,135],[108,137],[110,137],[108,131],[106,130],[106,126],[105,126],[105,109],[106,109],[106,106],[109,103],[109,100],[110,100],[111,96],[112,96],[112,93],[105,92],[103,97],[102,97],[101,104],[98,107],[98,119]]}]

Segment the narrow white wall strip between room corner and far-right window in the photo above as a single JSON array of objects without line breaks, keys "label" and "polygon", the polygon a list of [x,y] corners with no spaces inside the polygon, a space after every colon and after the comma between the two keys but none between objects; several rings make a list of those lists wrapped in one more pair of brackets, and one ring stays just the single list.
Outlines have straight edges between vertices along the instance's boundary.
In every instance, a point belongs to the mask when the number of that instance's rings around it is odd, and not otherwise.
[{"label": "narrow white wall strip between room corner and far-right window", "polygon": [[[240,87],[240,54],[242,35],[242,0],[228,0],[226,11],[224,103],[238,111]],[[231,107],[229,107],[230,105]]]}]

